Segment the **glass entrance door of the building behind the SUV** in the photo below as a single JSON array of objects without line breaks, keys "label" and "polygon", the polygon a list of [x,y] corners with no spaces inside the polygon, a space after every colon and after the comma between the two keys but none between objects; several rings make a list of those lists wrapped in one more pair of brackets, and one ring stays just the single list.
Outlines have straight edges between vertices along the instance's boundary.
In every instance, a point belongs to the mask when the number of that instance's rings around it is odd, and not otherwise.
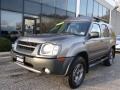
[{"label": "glass entrance door of the building behind the SUV", "polygon": [[35,34],[36,30],[36,19],[25,17],[24,18],[24,35],[32,35]]}]

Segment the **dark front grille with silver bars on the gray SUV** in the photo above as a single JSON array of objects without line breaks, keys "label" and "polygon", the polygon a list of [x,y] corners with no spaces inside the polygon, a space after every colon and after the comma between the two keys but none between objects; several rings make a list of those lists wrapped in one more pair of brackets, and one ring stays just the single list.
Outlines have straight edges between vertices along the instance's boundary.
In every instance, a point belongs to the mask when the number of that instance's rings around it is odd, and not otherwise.
[{"label": "dark front grille with silver bars on the gray SUV", "polygon": [[38,43],[18,41],[17,50],[32,53]]}]

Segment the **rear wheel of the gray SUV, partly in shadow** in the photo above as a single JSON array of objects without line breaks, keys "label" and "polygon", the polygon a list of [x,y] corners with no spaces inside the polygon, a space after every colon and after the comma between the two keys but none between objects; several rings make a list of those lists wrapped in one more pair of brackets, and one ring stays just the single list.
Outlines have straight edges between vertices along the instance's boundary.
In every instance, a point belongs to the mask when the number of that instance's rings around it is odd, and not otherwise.
[{"label": "rear wheel of the gray SUV, partly in shadow", "polygon": [[104,61],[105,66],[111,66],[114,63],[115,51],[111,49],[108,54],[108,59]]}]

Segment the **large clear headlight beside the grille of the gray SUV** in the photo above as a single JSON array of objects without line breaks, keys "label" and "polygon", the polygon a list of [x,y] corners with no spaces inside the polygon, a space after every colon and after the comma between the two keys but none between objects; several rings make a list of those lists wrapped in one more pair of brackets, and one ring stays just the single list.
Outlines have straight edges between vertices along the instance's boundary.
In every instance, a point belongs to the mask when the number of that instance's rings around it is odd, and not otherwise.
[{"label": "large clear headlight beside the grille of the gray SUV", "polygon": [[53,44],[43,44],[40,49],[40,55],[55,56],[59,52],[59,46]]}]

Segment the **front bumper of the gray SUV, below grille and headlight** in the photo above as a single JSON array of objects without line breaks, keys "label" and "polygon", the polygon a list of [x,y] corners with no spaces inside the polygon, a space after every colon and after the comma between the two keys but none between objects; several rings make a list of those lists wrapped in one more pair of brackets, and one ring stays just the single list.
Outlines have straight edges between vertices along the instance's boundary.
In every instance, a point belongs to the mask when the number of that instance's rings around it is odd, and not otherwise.
[{"label": "front bumper of the gray SUV, below grille and headlight", "polygon": [[[22,55],[20,53],[12,52],[11,53],[13,61],[27,69],[36,73],[44,73],[45,69],[49,70],[50,74],[56,75],[67,75],[69,66],[73,60],[73,57],[65,58],[64,62],[59,61],[58,59],[48,59],[48,58],[37,58],[27,55]],[[17,56],[23,56],[24,62],[18,62]],[[45,72],[46,73],[46,72]]]}]

